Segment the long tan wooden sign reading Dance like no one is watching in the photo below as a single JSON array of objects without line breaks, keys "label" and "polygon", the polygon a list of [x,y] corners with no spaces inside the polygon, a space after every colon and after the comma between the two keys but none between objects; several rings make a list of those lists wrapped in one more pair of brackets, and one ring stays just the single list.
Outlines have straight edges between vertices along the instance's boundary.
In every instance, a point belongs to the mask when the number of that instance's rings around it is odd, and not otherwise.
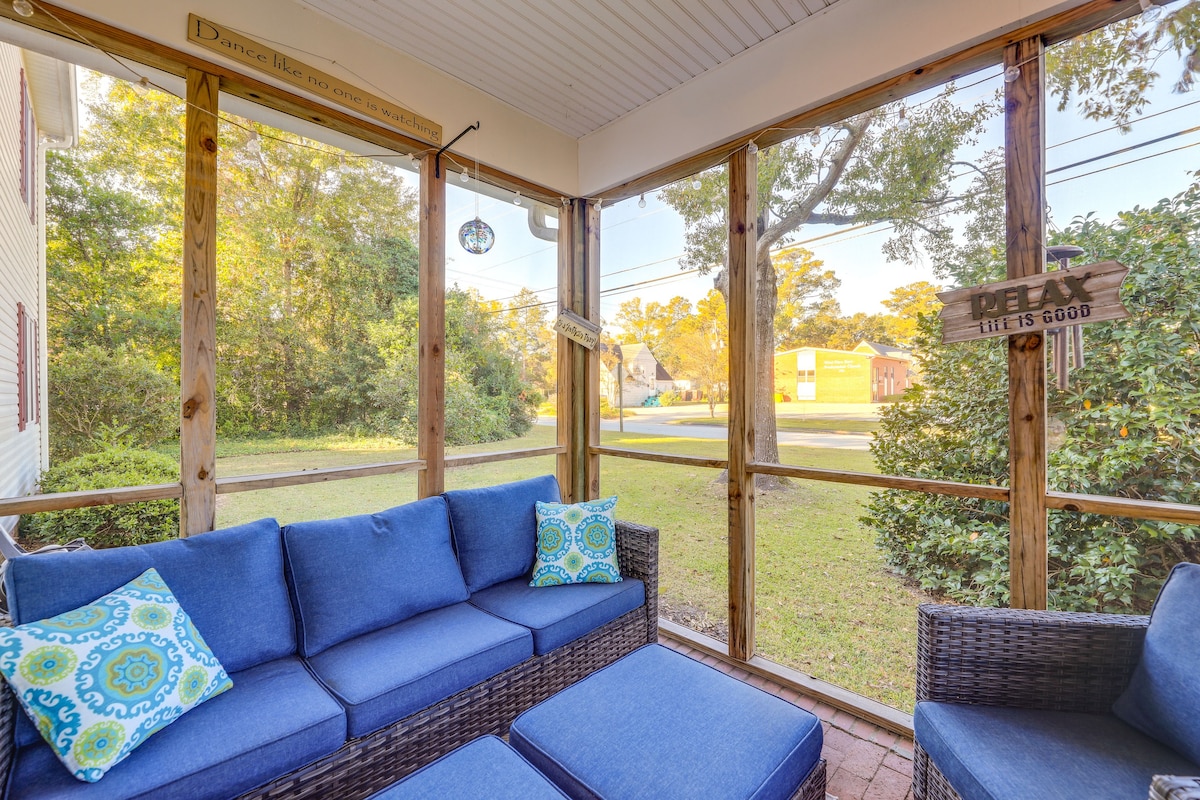
[{"label": "long tan wooden sign reading Dance like no one is watching", "polygon": [[306,89],[314,95],[352,108],[371,119],[390,125],[397,131],[410,133],[433,144],[442,144],[442,126],[419,114],[401,108],[396,103],[352,86],[344,80],[296,61],[268,44],[260,44],[229,28],[222,28],[196,14],[187,14],[187,40],[221,53],[235,61],[275,76],[293,86]]}]

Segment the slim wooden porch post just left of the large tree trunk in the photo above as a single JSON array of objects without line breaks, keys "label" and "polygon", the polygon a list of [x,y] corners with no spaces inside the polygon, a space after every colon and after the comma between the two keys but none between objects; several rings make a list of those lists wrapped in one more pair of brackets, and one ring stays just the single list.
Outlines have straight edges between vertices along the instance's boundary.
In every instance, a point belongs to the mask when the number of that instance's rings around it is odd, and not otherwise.
[{"label": "slim wooden porch post just left of the large tree trunk", "polygon": [[[730,157],[730,655],[754,656],[755,277],[758,158]],[[769,356],[768,356],[769,357]]]}]

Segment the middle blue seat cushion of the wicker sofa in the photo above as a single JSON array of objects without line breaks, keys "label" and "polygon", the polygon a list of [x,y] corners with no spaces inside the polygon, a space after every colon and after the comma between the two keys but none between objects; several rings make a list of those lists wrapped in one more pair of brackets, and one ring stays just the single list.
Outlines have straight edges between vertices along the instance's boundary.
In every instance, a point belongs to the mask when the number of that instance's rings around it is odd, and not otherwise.
[{"label": "middle blue seat cushion of the wicker sofa", "polygon": [[336,644],[308,664],[346,706],[349,735],[362,736],[532,655],[529,631],[456,603]]}]

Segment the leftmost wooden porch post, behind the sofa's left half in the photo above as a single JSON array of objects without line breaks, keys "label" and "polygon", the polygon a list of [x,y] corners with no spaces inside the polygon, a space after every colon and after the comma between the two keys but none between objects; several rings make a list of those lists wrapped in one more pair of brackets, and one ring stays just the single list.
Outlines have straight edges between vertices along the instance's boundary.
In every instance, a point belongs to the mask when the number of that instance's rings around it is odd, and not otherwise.
[{"label": "leftmost wooden porch post, behind the sofa's left half", "polygon": [[184,173],[182,330],[180,331],[179,535],[216,527],[216,76],[187,70]]}]

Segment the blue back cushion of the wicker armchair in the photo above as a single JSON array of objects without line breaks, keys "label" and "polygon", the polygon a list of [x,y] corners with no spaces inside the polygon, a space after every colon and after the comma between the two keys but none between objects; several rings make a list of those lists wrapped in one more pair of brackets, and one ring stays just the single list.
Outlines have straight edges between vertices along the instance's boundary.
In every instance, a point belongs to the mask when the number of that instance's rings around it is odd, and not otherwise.
[{"label": "blue back cushion of the wicker armchair", "polygon": [[1141,660],[1112,712],[1200,763],[1200,564],[1176,564],[1158,591]]}]

